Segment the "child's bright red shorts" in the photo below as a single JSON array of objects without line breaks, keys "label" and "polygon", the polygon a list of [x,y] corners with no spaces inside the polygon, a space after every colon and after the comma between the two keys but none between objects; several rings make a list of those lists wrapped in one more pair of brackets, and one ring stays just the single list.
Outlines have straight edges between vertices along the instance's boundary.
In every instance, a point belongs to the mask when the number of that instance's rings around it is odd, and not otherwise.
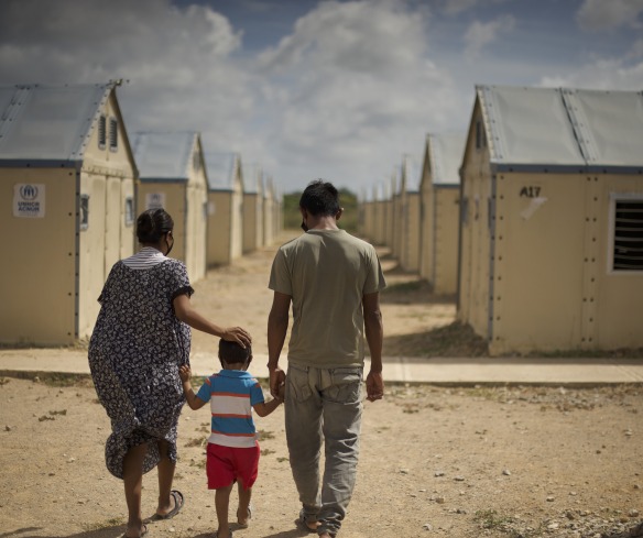
[{"label": "child's bright red shorts", "polygon": [[246,490],[252,487],[259,474],[259,443],[238,448],[208,442],[208,488],[228,487],[235,481]]}]

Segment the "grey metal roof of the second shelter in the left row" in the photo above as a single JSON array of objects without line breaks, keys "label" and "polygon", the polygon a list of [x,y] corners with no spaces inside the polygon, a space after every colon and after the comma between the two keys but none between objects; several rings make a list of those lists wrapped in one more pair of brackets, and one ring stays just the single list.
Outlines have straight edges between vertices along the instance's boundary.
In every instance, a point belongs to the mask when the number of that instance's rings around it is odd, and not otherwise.
[{"label": "grey metal roof of the second shelter in the left row", "polygon": [[132,138],[141,182],[187,182],[198,133],[138,132]]}]

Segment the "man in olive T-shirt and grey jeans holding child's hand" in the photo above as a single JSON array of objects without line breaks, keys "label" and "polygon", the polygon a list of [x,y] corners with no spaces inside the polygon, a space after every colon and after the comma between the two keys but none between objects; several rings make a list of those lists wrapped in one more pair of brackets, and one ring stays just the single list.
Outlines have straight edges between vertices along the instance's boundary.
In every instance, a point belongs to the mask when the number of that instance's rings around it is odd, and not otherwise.
[{"label": "man in olive T-shirt and grey jeans holding child's hand", "polygon": [[[334,538],[352,495],[361,429],[364,336],[371,355],[367,398],[381,399],[385,286],[375,250],[337,227],[337,189],[310,183],[299,200],[306,233],[282,245],[270,275],[270,387],[285,387],[285,426],[293,477],[303,508],[297,526]],[[287,376],[279,359],[293,305]],[[319,492],[319,453],[326,466]]]}]

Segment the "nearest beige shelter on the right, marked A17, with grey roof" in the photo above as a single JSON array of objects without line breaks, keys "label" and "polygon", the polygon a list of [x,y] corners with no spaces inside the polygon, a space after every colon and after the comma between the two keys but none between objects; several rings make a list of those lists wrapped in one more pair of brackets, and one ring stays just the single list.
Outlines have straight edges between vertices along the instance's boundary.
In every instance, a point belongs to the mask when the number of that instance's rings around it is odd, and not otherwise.
[{"label": "nearest beige shelter on the right, marked A17, with grey roof", "polygon": [[643,345],[643,92],[477,87],[461,200],[491,353]]}]

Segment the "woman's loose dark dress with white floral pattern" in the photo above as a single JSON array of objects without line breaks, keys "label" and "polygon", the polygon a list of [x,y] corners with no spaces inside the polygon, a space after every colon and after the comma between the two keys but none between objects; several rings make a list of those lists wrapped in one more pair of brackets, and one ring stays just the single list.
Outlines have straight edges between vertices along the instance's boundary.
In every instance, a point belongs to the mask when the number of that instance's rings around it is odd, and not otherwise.
[{"label": "woman's loose dark dress with white floral pattern", "polygon": [[185,265],[165,259],[150,268],[117,262],[98,300],[101,304],[89,342],[89,367],[112,432],[107,440],[107,469],[122,479],[123,458],[148,443],[143,472],[160,461],[157,442],[168,442],[176,461],[176,435],[185,402],[178,366],[189,364],[190,330],[172,301],[190,296]]}]

